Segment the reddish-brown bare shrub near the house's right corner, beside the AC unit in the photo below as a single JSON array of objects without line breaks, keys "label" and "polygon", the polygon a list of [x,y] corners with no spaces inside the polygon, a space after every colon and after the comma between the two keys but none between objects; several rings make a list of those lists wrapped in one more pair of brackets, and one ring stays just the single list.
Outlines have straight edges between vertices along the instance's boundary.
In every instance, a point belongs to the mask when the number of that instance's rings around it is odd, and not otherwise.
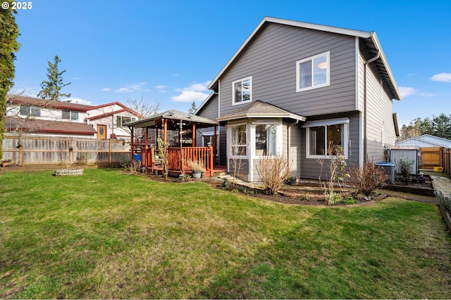
[{"label": "reddish-brown bare shrub near the house's right corner, beside the AC unit", "polygon": [[390,175],[373,162],[366,162],[362,169],[359,166],[350,169],[350,180],[357,189],[356,194],[362,193],[366,196],[378,187],[382,187],[390,179]]}]

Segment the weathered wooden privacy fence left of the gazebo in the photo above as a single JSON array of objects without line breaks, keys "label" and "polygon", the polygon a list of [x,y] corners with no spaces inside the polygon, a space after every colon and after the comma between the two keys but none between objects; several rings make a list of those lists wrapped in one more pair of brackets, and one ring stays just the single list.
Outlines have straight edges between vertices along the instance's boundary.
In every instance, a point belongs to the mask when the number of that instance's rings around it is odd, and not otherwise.
[{"label": "weathered wooden privacy fence left of the gazebo", "polygon": [[112,139],[6,135],[2,148],[3,159],[18,165],[119,164],[130,160],[130,145]]}]

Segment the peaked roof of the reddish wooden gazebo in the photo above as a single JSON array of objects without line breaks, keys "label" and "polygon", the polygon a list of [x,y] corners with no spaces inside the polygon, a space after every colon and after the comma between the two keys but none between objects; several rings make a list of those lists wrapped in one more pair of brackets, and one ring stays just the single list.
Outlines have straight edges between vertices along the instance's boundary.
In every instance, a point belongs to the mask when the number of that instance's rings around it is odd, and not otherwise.
[{"label": "peaked roof of the reddish wooden gazebo", "polygon": [[166,112],[161,112],[160,114],[153,115],[145,119],[140,119],[136,122],[128,123],[127,126],[135,128],[157,128],[161,126],[163,121],[167,122],[169,130],[180,129],[180,121],[182,121],[183,126],[194,123],[196,124],[197,128],[205,128],[218,125],[218,122],[212,121],[211,119],[192,115],[187,112],[180,112],[178,110],[168,110]]}]

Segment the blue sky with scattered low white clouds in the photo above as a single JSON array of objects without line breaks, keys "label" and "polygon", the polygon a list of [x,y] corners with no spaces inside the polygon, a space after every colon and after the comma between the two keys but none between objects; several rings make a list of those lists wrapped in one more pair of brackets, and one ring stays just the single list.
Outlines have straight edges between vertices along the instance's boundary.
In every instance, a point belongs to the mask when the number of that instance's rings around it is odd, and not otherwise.
[{"label": "blue sky with scattered low white clouds", "polygon": [[403,99],[400,124],[451,114],[451,1],[35,0],[18,10],[16,91],[36,96],[47,61],[63,89],[97,105],[127,99],[160,110],[199,106],[206,89],[265,16],[375,31]]}]

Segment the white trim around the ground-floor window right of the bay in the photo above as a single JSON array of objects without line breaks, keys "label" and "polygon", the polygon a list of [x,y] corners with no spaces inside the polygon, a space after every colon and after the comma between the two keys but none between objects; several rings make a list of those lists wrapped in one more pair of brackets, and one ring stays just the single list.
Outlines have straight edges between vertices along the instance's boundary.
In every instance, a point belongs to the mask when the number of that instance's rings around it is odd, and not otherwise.
[{"label": "white trim around the ground-floor window right of the bay", "polygon": [[[306,158],[314,158],[314,159],[330,159],[330,155],[324,154],[324,155],[310,155],[309,149],[310,149],[310,127],[319,127],[319,126],[331,126],[331,125],[338,125],[343,124],[343,141],[342,144],[343,147],[343,153],[345,159],[348,158],[348,152],[349,152],[349,136],[350,136],[350,129],[349,129],[349,123],[350,119],[348,118],[340,118],[340,119],[324,119],[321,121],[312,121],[307,122],[302,127],[305,128],[305,156]],[[327,131],[326,131],[327,132]],[[326,136],[327,139],[327,136]],[[327,143],[327,141],[326,141]]]}]

